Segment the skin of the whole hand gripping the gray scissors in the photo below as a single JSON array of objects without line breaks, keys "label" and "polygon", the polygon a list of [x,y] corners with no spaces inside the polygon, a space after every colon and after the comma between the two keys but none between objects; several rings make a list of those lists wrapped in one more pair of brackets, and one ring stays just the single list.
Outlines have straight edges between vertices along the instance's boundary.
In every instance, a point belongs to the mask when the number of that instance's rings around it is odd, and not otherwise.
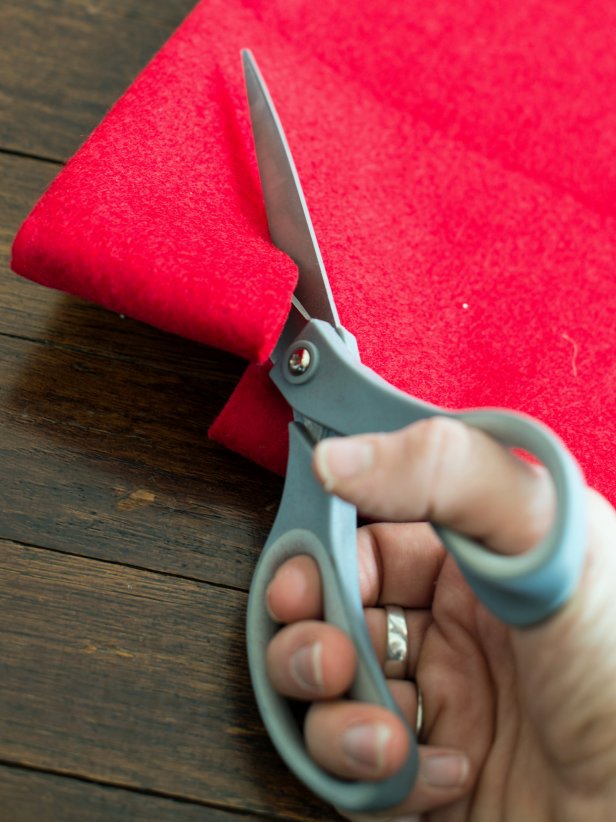
[{"label": "skin of the whole hand gripping the gray scissors", "polygon": [[[549,529],[549,476],[462,423],[435,419],[315,449],[328,489],[374,524],[358,531],[360,587],[378,658],[383,606],[405,610],[410,653],[392,692],[414,726],[423,696],[420,775],[379,817],[430,822],[616,819],[616,513],[588,491],[588,535],[574,596],[545,623],[513,630],[474,597],[427,521],[487,550],[527,551]],[[267,604],[281,630],[268,648],[281,693],[311,703],[313,758],[347,778],[384,778],[408,750],[403,724],[341,698],[354,674],[346,635],[321,620],[308,557],[283,565]]]}]

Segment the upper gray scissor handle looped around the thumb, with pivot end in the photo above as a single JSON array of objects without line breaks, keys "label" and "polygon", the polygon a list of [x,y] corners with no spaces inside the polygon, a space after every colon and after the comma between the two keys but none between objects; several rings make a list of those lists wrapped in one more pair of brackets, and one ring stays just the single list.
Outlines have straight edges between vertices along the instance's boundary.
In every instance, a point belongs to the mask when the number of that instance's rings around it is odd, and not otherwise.
[{"label": "upper gray scissor handle looped around the thumb, with pivot end", "polygon": [[298,348],[309,352],[309,367],[298,377],[285,355],[271,378],[296,413],[331,431],[395,431],[427,417],[457,417],[506,446],[534,454],[550,472],[556,492],[555,521],[539,545],[518,556],[498,556],[448,528],[437,530],[477,596],[509,625],[535,625],[567,600],[584,559],[584,482],[552,431],[509,411],[456,413],[421,402],[357,362],[336,330],[320,320],[307,323],[289,354]]}]

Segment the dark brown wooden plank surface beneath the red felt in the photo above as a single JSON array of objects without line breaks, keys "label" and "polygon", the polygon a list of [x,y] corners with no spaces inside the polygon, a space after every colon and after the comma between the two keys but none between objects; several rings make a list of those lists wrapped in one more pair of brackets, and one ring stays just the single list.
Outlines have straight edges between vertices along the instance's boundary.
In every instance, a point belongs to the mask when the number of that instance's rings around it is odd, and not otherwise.
[{"label": "dark brown wooden plank surface beneath the red felt", "polygon": [[0,1],[0,819],[332,819],[244,653],[281,481],[208,441],[239,360],[11,274],[21,221],[192,0]]}]

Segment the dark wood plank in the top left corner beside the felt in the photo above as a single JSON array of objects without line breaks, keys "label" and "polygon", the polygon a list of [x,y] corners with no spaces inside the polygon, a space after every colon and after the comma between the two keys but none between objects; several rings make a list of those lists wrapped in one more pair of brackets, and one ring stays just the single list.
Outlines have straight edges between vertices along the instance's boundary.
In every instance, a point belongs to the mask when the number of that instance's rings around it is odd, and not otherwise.
[{"label": "dark wood plank in the top left corner beside the felt", "polygon": [[194,0],[4,4],[0,148],[72,155]]}]

